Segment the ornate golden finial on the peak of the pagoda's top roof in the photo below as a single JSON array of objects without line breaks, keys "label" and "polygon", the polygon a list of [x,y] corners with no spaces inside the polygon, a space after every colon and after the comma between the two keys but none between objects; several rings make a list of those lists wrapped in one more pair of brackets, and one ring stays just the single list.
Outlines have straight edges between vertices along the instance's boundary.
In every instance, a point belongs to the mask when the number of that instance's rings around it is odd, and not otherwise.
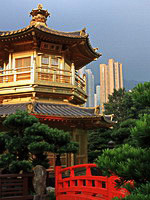
[{"label": "ornate golden finial on the peak of the pagoda's top roof", "polygon": [[47,17],[50,15],[47,10],[43,10],[43,5],[38,4],[37,9],[33,9],[30,13],[32,16],[32,20],[30,22],[30,25],[42,25],[47,26],[46,21]]}]

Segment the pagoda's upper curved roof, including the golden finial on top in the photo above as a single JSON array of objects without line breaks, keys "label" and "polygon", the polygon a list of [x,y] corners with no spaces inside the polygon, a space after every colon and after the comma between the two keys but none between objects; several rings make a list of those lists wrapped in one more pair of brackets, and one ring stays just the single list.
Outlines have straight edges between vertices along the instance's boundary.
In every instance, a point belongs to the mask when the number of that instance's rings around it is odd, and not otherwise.
[{"label": "pagoda's upper curved roof, including the golden finial on top", "polygon": [[30,25],[14,30],[14,31],[0,31],[0,45],[9,45],[19,41],[34,40],[52,42],[63,45],[63,51],[71,52],[72,62],[74,62],[76,69],[80,69],[86,64],[96,60],[101,56],[97,53],[97,48],[93,48],[90,44],[89,35],[86,29],[83,28],[74,32],[63,32],[51,29],[47,26],[46,20],[49,16],[47,10],[43,10],[42,5],[30,13],[32,20]]}]

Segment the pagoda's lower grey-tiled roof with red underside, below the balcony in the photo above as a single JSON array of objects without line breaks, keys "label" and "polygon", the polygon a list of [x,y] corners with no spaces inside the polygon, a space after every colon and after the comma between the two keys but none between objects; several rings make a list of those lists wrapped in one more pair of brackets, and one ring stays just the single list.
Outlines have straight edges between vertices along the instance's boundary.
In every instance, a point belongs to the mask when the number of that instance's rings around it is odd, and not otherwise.
[{"label": "pagoda's lower grey-tiled roof with red underside, below the balcony", "polygon": [[84,108],[72,104],[63,103],[20,103],[20,104],[1,104],[0,115],[6,117],[15,113],[17,110],[27,110],[45,122],[69,122],[84,128],[111,127],[115,122],[112,116],[104,116],[96,111],[96,108]]}]

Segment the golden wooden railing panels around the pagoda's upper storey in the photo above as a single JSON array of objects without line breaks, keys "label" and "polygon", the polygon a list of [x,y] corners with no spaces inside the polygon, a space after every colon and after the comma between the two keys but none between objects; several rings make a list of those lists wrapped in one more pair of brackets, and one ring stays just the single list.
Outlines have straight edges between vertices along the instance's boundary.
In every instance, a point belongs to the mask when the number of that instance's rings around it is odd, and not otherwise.
[{"label": "golden wooden railing panels around the pagoda's upper storey", "polygon": [[[49,83],[72,84],[72,72],[70,70],[59,69],[58,67],[36,67],[35,79],[47,81]],[[19,67],[14,69],[0,70],[0,83],[12,83],[17,81],[31,80],[33,77],[33,67]],[[85,91],[85,81],[75,74],[75,86]]]}]

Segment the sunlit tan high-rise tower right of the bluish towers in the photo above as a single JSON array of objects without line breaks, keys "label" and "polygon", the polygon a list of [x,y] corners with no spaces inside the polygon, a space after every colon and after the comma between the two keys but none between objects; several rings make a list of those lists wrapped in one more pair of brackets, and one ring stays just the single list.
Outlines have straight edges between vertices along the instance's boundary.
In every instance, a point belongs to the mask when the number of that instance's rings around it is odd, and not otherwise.
[{"label": "sunlit tan high-rise tower right of the bluish towers", "polygon": [[108,96],[123,88],[122,64],[114,59],[108,60],[108,65],[100,64],[100,102],[108,102]]}]

